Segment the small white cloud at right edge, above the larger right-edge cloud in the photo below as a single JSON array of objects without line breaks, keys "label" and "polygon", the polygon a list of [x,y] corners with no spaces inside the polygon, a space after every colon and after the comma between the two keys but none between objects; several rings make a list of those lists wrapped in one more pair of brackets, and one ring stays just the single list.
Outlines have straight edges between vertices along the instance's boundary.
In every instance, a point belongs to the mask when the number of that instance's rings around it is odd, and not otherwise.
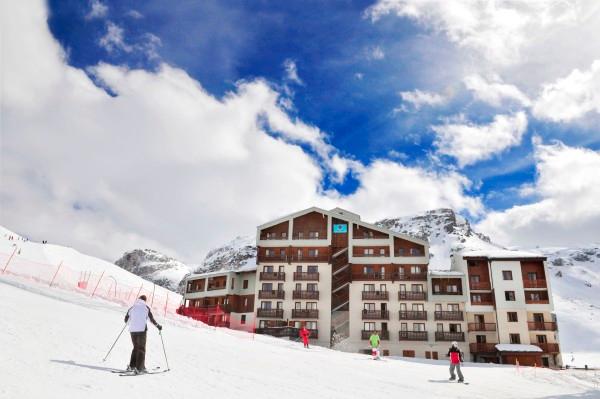
[{"label": "small white cloud at right edge, above the larger right-edge cloud", "polygon": [[587,113],[600,113],[600,60],[586,71],[573,70],[544,85],[533,105],[533,114],[553,122],[569,122]]}]

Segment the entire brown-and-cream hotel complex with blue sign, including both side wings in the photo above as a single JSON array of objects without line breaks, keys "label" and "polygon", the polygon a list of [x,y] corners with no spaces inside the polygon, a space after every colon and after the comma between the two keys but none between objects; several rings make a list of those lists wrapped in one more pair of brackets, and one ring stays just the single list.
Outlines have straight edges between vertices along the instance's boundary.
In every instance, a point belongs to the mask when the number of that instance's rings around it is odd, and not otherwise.
[{"label": "entire brown-and-cream hotel complex with blue sign, including both side wings", "polygon": [[[252,314],[257,333],[288,336],[305,325],[313,343],[345,351],[367,350],[376,330],[384,355],[438,359],[457,341],[472,361],[557,366],[545,260],[471,251],[455,254],[450,270],[429,270],[426,241],[313,207],[258,226],[256,270],[242,274],[243,292],[229,291],[235,272],[197,275],[185,301],[230,305],[239,295],[245,306],[235,317]],[[204,278],[220,279],[224,291],[194,291]]]}]

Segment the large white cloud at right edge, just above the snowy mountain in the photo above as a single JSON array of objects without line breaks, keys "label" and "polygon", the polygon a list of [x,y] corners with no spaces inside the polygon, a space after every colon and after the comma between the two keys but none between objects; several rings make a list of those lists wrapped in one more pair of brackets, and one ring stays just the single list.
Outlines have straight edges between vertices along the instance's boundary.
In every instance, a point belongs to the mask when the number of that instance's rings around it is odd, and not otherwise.
[{"label": "large white cloud at right edge, just above the snowy mountain", "polygon": [[585,245],[600,236],[600,152],[534,141],[536,201],[492,212],[476,226],[506,245]]}]

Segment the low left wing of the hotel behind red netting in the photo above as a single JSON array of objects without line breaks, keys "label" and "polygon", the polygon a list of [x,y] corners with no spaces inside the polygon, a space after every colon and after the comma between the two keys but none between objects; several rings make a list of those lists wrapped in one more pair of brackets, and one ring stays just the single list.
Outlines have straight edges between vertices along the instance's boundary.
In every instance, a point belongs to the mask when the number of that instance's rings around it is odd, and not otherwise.
[{"label": "low left wing of the hotel behind red netting", "polygon": [[213,326],[253,328],[255,276],[255,267],[192,274],[179,313]]}]

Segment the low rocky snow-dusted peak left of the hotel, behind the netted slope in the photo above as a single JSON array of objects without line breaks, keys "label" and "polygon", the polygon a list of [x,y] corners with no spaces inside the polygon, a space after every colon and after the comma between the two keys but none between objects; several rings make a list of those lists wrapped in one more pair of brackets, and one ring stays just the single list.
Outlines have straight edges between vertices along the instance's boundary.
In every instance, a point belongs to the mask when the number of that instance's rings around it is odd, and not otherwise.
[{"label": "low rocky snow-dusted peak left of the hotel, behind the netted slope", "polygon": [[115,265],[172,291],[177,291],[179,283],[191,272],[188,265],[153,249],[126,252]]}]

